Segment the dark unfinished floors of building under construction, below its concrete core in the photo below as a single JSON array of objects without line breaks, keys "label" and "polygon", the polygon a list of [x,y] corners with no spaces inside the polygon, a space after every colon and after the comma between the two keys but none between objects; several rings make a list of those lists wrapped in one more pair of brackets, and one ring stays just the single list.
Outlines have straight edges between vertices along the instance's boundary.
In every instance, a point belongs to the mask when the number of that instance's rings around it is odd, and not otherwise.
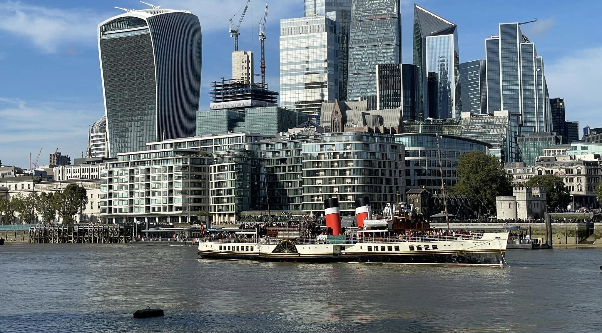
[{"label": "dark unfinished floors of building under construction, below its concrete core", "polygon": [[209,91],[211,110],[237,110],[245,108],[275,107],[278,105],[278,93],[267,89],[264,83],[247,83],[241,79],[222,79],[212,81]]}]

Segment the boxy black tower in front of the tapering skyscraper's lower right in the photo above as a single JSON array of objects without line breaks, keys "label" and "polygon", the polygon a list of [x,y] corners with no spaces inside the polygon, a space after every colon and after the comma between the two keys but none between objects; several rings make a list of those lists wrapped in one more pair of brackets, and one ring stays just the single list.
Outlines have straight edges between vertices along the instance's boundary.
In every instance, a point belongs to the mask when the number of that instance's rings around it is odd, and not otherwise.
[{"label": "boxy black tower in front of the tapering skyscraper's lower right", "polygon": [[376,65],[376,110],[402,108],[403,120],[417,120],[418,67],[413,64]]}]

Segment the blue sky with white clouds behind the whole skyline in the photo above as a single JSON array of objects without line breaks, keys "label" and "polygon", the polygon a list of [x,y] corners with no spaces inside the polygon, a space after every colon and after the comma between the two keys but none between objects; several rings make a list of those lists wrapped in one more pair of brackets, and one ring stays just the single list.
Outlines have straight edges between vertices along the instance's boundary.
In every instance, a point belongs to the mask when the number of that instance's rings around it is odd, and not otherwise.
[{"label": "blue sky with white clouds behind the whole skyline", "polygon": [[[203,32],[200,108],[209,103],[210,81],[231,76],[234,40],[228,19],[244,0],[149,0],[163,8],[190,10]],[[239,49],[256,54],[257,22],[265,0],[252,0],[241,27]],[[485,38],[499,22],[538,22],[523,26],[544,57],[551,97],[566,98],[566,119],[580,127],[602,126],[598,85],[602,77],[602,39],[597,26],[602,1],[417,1],[458,25],[460,60],[484,57]],[[88,125],[104,114],[96,43],[96,25],[120,14],[117,7],[146,7],[137,0],[0,0],[0,160],[29,166],[29,152],[39,164],[59,148],[81,157]],[[303,16],[302,0],[270,1],[266,29],[267,82],[278,90],[279,20]],[[593,14],[589,14],[593,13]],[[412,62],[412,2],[402,0],[403,62]],[[595,18],[598,17],[598,18]]]}]

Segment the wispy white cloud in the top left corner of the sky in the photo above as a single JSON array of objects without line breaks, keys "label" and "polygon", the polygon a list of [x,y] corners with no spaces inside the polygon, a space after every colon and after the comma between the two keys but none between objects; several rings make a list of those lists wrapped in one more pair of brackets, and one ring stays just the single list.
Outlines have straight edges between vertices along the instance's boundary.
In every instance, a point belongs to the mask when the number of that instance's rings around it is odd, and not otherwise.
[{"label": "wispy white cloud in the top left corner of the sky", "polygon": [[0,30],[31,40],[44,52],[61,46],[95,43],[96,25],[103,17],[96,11],[58,9],[21,2],[0,2]]}]

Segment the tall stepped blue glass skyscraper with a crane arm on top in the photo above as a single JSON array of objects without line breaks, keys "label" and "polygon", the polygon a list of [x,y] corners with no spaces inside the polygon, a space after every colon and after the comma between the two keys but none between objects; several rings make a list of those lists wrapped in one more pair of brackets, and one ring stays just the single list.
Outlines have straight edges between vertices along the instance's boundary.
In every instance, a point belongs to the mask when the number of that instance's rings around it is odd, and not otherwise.
[{"label": "tall stepped blue glass skyscraper with a crane arm on top", "polygon": [[521,133],[549,132],[544,60],[521,24],[500,23],[498,36],[485,39],[488,111],[510,111]]}]

